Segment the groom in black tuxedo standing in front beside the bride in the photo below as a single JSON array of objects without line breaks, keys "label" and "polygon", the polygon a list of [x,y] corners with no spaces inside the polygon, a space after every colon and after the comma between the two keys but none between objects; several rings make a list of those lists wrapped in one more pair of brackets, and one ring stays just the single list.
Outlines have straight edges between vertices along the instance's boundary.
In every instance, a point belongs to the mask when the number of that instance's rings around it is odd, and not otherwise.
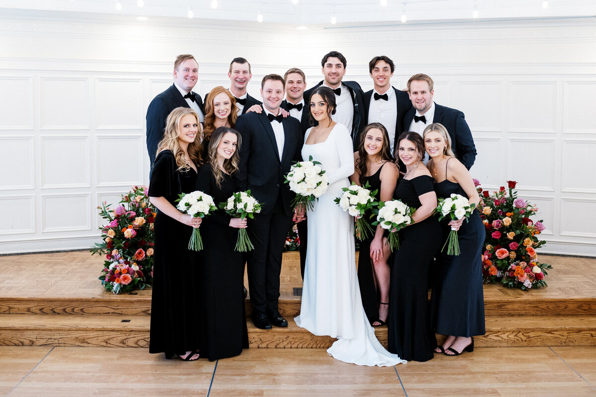
[{"label": "groom in black tuxedo standing in front beside the bride", "polygon": [[[269,74],[261,82],[263,112],[238,117],[236,130],[242,136],[238,185],[250,189],[263,207],[249,220],[248,233],[254,245],[248,255],[250,303],[253,323],[260,329],[288,322],[278,310],[281,256],[293,220],[294,193],[284,183],[293,161],[300,159],[302,134],[296,118],[283,117],[284,79]],[[301,220],[303,212],[296,220]],[[222,314],[225,315],[225,314]]]}]

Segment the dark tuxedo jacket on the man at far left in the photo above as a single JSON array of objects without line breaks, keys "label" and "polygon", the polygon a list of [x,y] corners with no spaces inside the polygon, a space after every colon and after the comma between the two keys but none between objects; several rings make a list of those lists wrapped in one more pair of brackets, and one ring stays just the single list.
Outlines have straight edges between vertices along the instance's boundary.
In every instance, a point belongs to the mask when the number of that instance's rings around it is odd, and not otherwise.
[{"label": "dark tuxedo jacket on the man at far left", "polygon": [[[198,108],[205,114],[201,96],[198,93],[194,95]],[[151,167],[153,167],[153,162],[155,161],[157,145],[163,138],[167,116],[172,110],[179,107],[190,108],[186,99],[184,99],[176,86],[172,84],[167,90],[153,98],[153,101],[151,101],[147,108],[147,116],[145,117],[145,120],[147,120],[147,152],[151,160]]]}]

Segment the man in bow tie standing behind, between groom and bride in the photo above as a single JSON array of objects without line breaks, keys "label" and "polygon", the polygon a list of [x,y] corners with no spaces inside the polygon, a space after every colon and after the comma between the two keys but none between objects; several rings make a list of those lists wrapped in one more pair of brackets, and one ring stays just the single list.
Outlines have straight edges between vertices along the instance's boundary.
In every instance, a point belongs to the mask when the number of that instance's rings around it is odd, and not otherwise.
[{"label": "man in bow tie standing behind, between groom and bride", "polygon": [[[291,117],[300,120],[300,129],[302,130],[302,139],[304,133],[308,130],[311,111],[310,107],[304,102],[304,89],[306,88],[306,76],[299,68],[290,68],[284,74],[285,80],[285,99],[281,102],[281,108],[290,112]],[[300,274],[304,279],[304,269],[306,265],[306,239],[308,227],[306,220],[298,225],[298,236],[300,236]]]}]

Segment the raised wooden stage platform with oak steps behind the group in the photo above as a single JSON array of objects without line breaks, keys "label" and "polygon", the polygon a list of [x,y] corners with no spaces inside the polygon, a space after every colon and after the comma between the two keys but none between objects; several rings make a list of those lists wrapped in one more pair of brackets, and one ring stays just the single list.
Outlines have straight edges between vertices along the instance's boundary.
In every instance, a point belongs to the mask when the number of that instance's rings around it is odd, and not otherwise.
[{"label": "raised wooden stage platform with oak steps behind the group", "polygon": [[[479,347],[596,346],[596,259],[541,255],[548,287],[524,292],[485,285],[486,335]],[[105,292],[102,258],[89,252],[0,257],[0,345],[147,347],[151,289]],[[247,283],[245,282],[245,285]],[[249,324],[252,348],[326,348],[330,337],[294,324],[302,287],[297,252],[284,254],[280,311],[287,328]],[[250,302],[247,301],[247,313]],[[386,346],[387,327],[375,327]]]}]

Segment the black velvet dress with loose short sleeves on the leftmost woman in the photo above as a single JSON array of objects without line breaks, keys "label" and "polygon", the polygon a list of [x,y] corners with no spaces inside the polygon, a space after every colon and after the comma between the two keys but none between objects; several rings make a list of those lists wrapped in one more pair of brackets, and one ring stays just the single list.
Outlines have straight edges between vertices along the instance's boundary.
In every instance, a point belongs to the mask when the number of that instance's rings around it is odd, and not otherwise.
[{"label": "black velvet dress with loose short sleeves on the leftmost woman", "polygon": [[[157,155],[151,173],[149,196],[164,197],[174,207],[180,193],[195,190],[197,173],[177,170],[171,151]],[[166,358],[200,348],[200,262],[188,249],[193,228],[159,210],[153,224],[155,256],[151,295],[149,352]]]}]

